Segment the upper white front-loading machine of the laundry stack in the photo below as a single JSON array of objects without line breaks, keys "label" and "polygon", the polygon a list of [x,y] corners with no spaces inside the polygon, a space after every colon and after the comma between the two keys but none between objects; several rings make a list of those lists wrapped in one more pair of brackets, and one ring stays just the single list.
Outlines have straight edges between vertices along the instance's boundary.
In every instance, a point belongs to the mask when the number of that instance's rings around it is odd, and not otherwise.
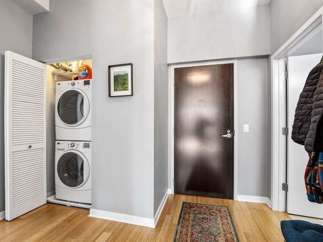
[{"label": "upper white front-loading machine of the laundry stack", "polygon": [[56,140],[92,140],[92,79],[56,83]]}]

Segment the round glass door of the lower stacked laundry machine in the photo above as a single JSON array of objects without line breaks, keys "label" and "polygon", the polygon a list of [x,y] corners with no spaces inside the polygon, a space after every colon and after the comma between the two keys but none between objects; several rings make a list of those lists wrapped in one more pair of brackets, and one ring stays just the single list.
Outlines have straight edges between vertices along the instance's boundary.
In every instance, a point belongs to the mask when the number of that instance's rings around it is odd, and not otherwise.
[{"label": "round glass door of the lower stacked laundry machine", "polygon": [[60,157],[57,163],[57,172],[64,185],[70,188],[79,188],[89,178],[90,165],[81,152],[69,150]]}]

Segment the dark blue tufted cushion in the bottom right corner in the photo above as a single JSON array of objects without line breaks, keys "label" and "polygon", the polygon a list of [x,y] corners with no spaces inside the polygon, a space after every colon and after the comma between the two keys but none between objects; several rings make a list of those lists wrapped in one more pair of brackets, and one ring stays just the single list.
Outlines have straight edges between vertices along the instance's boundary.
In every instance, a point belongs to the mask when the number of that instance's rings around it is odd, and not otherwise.
[{"label": "dark blue tufted cushion in the bottom right corner", "polygon": [[303,220],[283,220],[281,229],[286,242],[323,241],[323,226]]}]

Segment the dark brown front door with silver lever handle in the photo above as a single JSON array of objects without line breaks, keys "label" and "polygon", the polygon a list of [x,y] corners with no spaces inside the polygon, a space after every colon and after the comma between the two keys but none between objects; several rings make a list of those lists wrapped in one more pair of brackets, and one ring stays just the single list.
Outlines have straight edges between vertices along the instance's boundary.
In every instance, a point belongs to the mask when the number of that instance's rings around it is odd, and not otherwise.
[{"label": "dark brown front door with silver lever handle", "polygon": [[233,85],[233,64],[175,69],[175,193],[233,199]]}]

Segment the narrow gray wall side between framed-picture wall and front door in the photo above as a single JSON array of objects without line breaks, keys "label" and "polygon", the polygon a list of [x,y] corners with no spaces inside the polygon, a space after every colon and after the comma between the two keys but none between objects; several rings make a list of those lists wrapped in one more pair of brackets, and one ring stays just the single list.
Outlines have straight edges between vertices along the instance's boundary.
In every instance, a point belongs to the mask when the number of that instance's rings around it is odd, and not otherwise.
[{"label": "narrow gray wall side between framed-picture wall and front door", "polygon": [[168,190],[167,16],[154,0],[154,214]]}]

